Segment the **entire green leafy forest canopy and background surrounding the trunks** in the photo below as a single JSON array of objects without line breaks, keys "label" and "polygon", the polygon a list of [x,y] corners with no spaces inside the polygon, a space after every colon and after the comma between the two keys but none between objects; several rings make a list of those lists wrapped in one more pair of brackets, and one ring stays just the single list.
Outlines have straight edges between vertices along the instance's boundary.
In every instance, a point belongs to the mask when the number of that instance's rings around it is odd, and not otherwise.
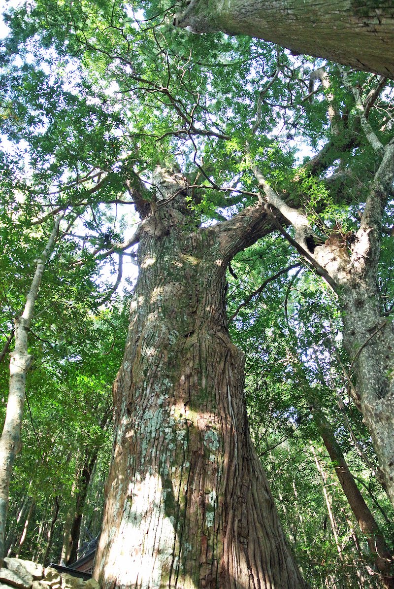
[{"label": "entire green leafy forest canopy and background surrounding the trunks", "polygon": [[[90,532],[98,531],[108,391],[121,361],[128,304],[100,310],[113,293],[97,276],[112,256],[117,286],[122,251],[137,241],[114,220],[130,208],[125,202],[135,203],[141,219],[157,208],[176,210],[175,197],[160,203],[155,190],[160,166],[170,176],[181,170],[194,228],[226,223],[264,200],[270,205],[261,207],[266,237],[238,253],[227,272],[231,335],[246,354],[252,438],[310,584],[390,587],[389,475],[380,472],[356,409],[355,374],[361,357],[370,358],[368,338],[374,343],[386,331],[392,337],[392,83],[246,37],[188,35],[172,27],[173,12],[171,5],[133,11],[105,2],[37,2],[10,12],[1,78],[6,353],[37,255],[56,216],[64,218],[29,333],[35,360],[7,548],[69,560],[78,472],[94,457],[83,515]],[[340,260],[352,254],[385,155],[391,176],[374,279],[385,324],[375,322],[352,357],[343,347],[330,267],[314,259],[307,239],[313,247],[335,247]],[[296,209],[307,221],[299,222]],[[392,367],[383,376],[392,382]],[[335,478],[323,421],[375,518],[385,562]]]}]

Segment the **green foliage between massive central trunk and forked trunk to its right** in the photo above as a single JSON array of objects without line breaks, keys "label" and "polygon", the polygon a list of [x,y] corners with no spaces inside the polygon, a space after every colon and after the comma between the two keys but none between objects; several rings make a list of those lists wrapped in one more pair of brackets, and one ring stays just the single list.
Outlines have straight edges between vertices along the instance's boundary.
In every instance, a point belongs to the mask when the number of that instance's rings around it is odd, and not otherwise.
[{"label": "green foliage between massive central trunk and forked trunk to its right", "polygon": [[[361,545],[367,552],[366,540],[357,530],[312,412],[314,403],[319,403],[350,472],[392,547],[392,507],[374,477],[377,464],[369,433],[350,402],[335,299],[328,291],[322,297],[321,279],[294,268],[249,300],[262,283],[292,263],[291,250],[274,236],[245,250],[231,263],[229,316],[239,311],[230,330],[246,355],[251,437],[310,585],[317,589],[329,579],[344,587],[357,587],[356,570],[363,570],[363,586],[378,587],[366,569],[373,567],[372,557],[359,551]],[[325,472],[324,485],[313,453]],[[342,560],[323,487],[333,511]]]}]

